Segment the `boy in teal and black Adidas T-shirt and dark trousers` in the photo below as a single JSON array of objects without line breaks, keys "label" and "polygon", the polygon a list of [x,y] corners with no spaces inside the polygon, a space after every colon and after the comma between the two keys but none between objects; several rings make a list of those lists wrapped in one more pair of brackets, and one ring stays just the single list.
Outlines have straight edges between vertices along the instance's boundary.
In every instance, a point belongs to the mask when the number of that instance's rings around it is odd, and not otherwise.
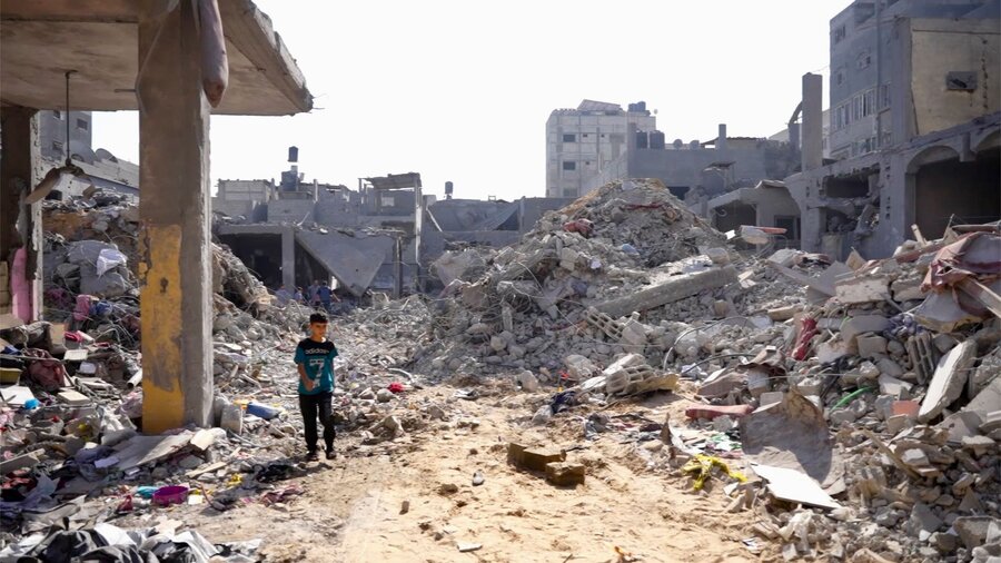
[{"label": "boy in teal and black Adidas T-shirt and dark trousers", "polygon": [[306,424],[306,458],[319,460],[316,451],[316,418],[324,425],[324,445],[327,460],[334,458],[334,417],[330,402],[334,397],[334,358],[337,347],[327,339],[327,316],[314,313],[309,316],[309,338],[296,347],[296,367],[299,372],[299,409]]}]

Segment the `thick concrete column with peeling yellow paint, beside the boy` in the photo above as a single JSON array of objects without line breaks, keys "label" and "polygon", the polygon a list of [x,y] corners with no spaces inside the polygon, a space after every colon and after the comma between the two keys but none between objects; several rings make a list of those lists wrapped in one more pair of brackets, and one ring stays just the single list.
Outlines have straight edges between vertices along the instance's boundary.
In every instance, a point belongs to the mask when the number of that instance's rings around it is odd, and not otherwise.
[{"label": "thick concrete column with peeling yellow paint, beside the boy", "polygon": [[139,3],[146,433],[211,422],[209,105],[194,8],[171,0]]}]

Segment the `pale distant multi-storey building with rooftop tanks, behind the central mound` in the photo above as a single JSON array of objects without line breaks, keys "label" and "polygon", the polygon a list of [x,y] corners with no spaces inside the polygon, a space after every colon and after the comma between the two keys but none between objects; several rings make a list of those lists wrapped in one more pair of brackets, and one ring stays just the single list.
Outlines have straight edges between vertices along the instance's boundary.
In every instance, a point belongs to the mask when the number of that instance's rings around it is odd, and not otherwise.
[{"label": "pale distant multi-storey building with rooftop tanks, behind the central mound", "polygon": [[587,180],[625,154],[630,125],[653,131],[657,118],[642,101],[627,110],[593,100],[582,101],[576,109],[553,110],[546,121],[546,196],[584,195]]}]

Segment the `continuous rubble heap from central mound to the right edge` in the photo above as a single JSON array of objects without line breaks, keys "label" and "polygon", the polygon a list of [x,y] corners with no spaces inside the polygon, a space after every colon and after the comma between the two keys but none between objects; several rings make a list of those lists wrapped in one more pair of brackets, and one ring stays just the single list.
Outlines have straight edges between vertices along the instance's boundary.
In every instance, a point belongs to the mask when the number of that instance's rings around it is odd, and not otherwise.
[{"label": "continuous rubble heap from central mound to the right edge", "polygon": [[675,206],[655,182],[609,185],[493,256],[446,255],[417,372],[509,374],[551,394],[526,424],[583,421],[588,438],[609,428],[596,405],[692,389],[686,425],[631,435],[661,432],[650,466],[755,476],[727,492],[760,515],[749,549],[1001,555],[998,227],[840,263],[725,250]]}]

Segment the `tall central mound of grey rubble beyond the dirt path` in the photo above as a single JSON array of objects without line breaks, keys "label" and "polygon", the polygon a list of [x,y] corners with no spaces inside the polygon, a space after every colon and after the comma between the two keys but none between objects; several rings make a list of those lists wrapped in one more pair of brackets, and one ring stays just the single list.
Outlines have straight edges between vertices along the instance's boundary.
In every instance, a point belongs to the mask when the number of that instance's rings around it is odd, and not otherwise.
[{"label": "tall central mound of grey rubble beyond the dirt path", "polygon": [[[657,180],[609,184],[546,214],[518,245],[437,260],[436,349],[417,371],[532,369],[555,382],[569,355],[611,365],[636,352],[657,365],[686,328],[674,319],[737,295],[724,289],[737,273],[723,244]],[[616,320],[633,312],[647,322]]]}]

